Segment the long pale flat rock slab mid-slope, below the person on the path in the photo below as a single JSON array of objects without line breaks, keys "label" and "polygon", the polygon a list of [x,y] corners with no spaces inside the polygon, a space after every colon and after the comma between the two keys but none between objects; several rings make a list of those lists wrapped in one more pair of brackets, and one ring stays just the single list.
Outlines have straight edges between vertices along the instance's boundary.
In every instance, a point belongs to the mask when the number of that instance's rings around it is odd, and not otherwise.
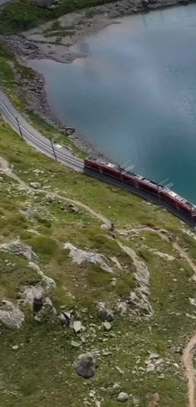
[{"label": "long pale flat rock slab mid-slope, below the person on the path", "polygon": [[109,261],[103,254],[86,252],[85,250],[77,249],[71,243],[65,243],[63,248],[70,250],[70,256],[72,257],[72,260],[77,264],[81,264],[84,262],[99,264],[103,270],[110,273],[113,272],[110,267]]}]

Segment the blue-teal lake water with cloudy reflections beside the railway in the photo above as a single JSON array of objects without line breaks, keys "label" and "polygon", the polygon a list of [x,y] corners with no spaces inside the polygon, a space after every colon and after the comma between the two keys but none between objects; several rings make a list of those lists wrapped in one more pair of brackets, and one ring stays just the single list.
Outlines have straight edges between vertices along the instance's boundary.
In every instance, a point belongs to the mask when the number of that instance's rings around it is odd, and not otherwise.
[{"label": "blue-teal lake water with cloudy reflections beside the railway", "polygon": [[32,62],[55,114],[196,204],[196,4],[123,17],[74,49],[88,57]]}]

